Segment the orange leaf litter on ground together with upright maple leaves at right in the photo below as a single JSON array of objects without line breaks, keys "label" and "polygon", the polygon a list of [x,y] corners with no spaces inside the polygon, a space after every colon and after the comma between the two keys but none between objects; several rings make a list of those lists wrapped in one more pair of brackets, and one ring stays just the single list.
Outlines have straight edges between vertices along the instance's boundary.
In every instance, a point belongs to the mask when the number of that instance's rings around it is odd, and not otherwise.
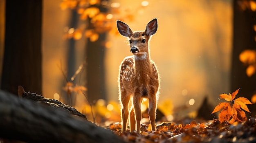
[{"label": "orange leaf litter on ground together with upright maple leaves at right", "polygon": [[219,119],[203,123],[193,120],[188,124],[162,122],[153,132],[146,124],[141,124],[140,133],[121,132],[121,123],[112,123],[107,129],[132,143],[255,143],[256,118],[247,119],[243,111],[250,112],[246,104],[252,103],[244,97],[235,99],[239,89],[220,95],[228,102],[219,103],[211,113],[221,110]]}]

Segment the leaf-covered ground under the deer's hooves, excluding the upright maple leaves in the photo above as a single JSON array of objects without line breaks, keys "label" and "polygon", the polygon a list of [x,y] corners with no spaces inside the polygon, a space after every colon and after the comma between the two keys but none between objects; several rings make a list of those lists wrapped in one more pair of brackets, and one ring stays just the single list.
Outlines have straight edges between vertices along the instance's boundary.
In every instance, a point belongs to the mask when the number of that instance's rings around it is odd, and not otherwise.
[{"label": "leaf-covered ground under the deer's hooves, excluding the upright maple leaves", "polygon": [[141,133],[121,132],[120,123],[108,127],[122,139],[133,143],[255,143],[256,118],[250,117],[243,123],[220,123],[218,119],[189,124],[163,122],[150,132],[150,126],[141,124]]}]

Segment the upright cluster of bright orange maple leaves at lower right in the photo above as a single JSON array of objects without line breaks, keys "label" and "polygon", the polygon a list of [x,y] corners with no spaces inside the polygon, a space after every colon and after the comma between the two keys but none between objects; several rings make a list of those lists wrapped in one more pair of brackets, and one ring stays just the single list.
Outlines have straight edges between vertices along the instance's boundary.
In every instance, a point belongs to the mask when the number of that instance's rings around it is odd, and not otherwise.
[{"label": "upright cluster of bright orange maple leaves at lower right", "polygon": [[[239,90],[240,90],[240,88],[238,90],[236,90],[235,92],[233,92],[232,94],[229,93],[229,95],[227,95],[227,94],[220,95],[221,99],[225,99],[226,101],[229,101],[229,103],[228,102],[219,103],[213,109],[213,112],[211,114],[218,112],[222,109],[219,114],[219,120],[221,123],[228,121],[229,123],[232,124],[236,121],[243,122],[243,121],[247,120],[247,117],[243,110],[250,112],[246,104],[252,104],[252,103],[245,97],[239,97],[239,98],[235,99]],[[231,107],[231,105],[232,105],[232,107]]]}]

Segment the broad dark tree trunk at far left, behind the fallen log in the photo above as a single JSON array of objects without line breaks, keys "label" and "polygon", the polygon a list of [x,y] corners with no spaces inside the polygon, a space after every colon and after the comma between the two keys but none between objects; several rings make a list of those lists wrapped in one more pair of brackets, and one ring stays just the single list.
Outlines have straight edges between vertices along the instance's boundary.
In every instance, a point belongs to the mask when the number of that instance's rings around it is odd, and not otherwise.
[{"label": "broad dark tree trunk at far left, behind the fallen log", "polygon": [[6,0],[1,89],[13,94],[23,85],[42,94],[42,0]]}]

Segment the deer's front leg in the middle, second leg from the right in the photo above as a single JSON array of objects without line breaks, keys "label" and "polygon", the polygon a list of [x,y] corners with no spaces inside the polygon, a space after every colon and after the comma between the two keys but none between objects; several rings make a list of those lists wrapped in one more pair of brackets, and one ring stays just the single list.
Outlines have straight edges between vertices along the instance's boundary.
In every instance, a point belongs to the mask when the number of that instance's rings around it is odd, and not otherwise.
[{"label": "deer's front leg in the middle, second leg from the right", "polygon": [[140,109],[140,105],[141,105],[141,98],[140,95],[137,94],[133,97],[133,108],[135,111],[135,119],[136,119],[136,131],[140,132],[140,121],[141,121],[141,117],[142,117],[142,113],[141,113],[141,109]]}]

